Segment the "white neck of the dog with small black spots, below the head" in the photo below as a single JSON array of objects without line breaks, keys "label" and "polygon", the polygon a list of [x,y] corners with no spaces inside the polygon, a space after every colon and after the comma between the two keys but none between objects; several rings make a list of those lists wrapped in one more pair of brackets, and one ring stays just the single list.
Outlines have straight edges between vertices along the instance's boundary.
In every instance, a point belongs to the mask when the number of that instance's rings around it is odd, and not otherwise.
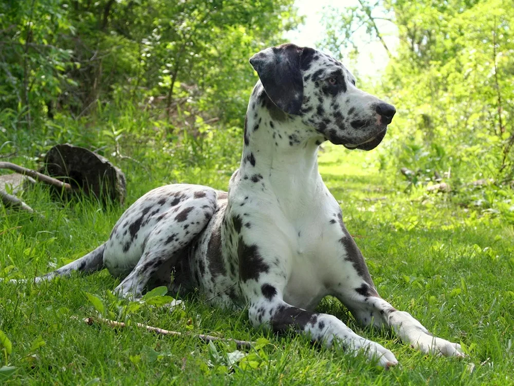
[{"label": "white neck of the dog with small black spots, below the head", "polygon": [[307,200],[321,181],[318,147],[322,141],[322,136],[309,133],[299,116],[274,106],[259,82],[245,118],[240,176],[263,179],[277,196],[281,192],[301,191],[302,199]]}]

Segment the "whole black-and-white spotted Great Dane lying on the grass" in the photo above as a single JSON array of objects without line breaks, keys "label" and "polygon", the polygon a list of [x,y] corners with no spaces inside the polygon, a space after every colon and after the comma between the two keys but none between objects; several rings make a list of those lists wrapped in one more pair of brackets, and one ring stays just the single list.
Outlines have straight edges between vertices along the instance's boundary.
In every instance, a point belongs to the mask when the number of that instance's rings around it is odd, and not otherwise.
[{"label": "whole black-and-white spotted Great Dane lying on the grass", "polygon": [[434,337],[378,295],[318,172],[324,141],[371,150],[395,108],[359,90],[340,62],[313,48],[266,48],[250,63],[259,81],[228,193],[186,184],[154,189],[126,210],[104,244],[36,282],[107,268],[122,279],[121,296],[137,298],[163,283],[172,291],[198,288],[214,304],[248,307],[254,326],[397,364],[390,350],[314,311],[333,295],[364,326],[388,327],[424,353],[464,356],[459,344]]}]

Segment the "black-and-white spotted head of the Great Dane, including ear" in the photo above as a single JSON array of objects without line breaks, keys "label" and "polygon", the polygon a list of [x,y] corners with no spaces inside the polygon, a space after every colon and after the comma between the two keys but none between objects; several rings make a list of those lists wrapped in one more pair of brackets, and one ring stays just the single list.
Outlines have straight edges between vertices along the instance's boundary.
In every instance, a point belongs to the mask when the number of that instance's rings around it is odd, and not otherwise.
[{"label": "black-and-white spotted head of the Great Dane, including ear", "polygon": [[346,67],[313,48],[266,48],[250,64],[279,109],[299,116],[313,134],[348,149],[377,147],[396,112],[391,104],[357,89]]}]

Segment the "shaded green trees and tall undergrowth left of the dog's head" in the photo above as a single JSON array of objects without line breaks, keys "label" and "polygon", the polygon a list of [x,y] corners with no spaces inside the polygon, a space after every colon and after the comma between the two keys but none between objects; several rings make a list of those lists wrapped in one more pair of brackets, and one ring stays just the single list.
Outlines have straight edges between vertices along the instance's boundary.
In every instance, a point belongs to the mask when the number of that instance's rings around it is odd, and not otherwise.
[{"label": "shaded green trees and tall undergrowth left of the dog's head", "polygon": [[2,150],[40,156],[68,142],[228,172],[256,79],[248,58],[300,20],[291,4],[2,2]]}]

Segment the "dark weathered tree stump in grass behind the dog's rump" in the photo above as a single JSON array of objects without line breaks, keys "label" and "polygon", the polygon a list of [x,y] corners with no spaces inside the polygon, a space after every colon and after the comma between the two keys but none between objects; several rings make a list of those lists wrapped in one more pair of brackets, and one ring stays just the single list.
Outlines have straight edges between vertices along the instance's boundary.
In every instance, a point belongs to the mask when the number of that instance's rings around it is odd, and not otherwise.
[{"label": "dark weathered tree stump in grass behind the dog's rump", "polygon": [[69,144],[52,147],[43,160],[42,173],[71,185],[72,192],[94,195],[101,201],[123,203],[125,174],[105,157]]}]

